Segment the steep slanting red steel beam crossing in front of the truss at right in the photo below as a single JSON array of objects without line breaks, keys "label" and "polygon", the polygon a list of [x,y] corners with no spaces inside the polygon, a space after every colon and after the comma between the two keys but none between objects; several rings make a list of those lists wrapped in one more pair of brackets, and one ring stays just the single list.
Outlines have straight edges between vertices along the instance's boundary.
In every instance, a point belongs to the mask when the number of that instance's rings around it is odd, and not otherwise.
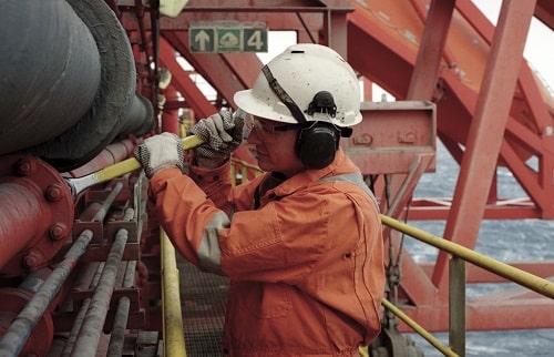
[{"label": "steep slanting red steel beam crossing in front of the truss at right", "polygon": [[[444,232],[445,238],[464,246],[475,246],[510,114],[505,103],[513,99],[533,10],[530,2],[502,4]],[[433,282],[440,287],[447,286],[447,267],[448,255],[439,253]]]}]

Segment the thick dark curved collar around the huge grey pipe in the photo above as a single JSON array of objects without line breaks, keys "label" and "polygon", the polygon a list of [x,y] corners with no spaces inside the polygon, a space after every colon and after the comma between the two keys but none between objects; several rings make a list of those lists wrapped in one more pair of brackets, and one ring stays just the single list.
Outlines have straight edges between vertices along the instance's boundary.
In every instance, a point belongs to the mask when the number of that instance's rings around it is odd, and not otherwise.
[{"label": "thick dark curved collar around the huge grey pipe", "polygon": [[[31,153],[43,157],[59,171],[79,167],[96,156],[120,135],[129,120],[127,113],[136,101],[133,51],[120,20],[103,0],[65,1],[89,28],[96,47],[101,49],[102,80],[92,106],[76,125],[30,149]],[[138,103],[147,105],[141,100]],[[142,112],[152,111],[145,109]],[[144,120],[152,121],[152,118]]]}]

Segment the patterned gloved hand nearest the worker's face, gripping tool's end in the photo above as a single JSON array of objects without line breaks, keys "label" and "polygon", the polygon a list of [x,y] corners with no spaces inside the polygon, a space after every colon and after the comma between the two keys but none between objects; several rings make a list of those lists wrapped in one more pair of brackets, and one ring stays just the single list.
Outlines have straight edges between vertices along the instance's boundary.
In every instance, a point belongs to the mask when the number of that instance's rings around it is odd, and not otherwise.
[{"label": "patterned gloved hand nearest the worker's face, gripping tool's end", "polygon": [[243,141],[244,116],[236,116],[233,118],[228,110],[222,110],[218,114],[203,119],[191,128],[191,132],[204,142],[194,150],[197,159],[223,164],[230,156]]}]

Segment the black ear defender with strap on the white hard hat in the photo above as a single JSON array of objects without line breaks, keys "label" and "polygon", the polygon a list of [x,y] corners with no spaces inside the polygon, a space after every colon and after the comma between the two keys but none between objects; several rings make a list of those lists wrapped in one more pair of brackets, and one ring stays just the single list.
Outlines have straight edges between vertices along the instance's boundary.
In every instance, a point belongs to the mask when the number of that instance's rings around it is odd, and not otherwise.
[{"label": "black ear defender with strap on the white hard hat", "polygon": [[[296,121],[304,126],[296,139],[296,153],[304,165],[308,169],[324,169],[329,165],[335,160],[335,153],[339,147],[339,137],[342,131],[332,123],[318,121],[312,123],[308,122],[306,118],[304,118],[302,111],[290,95],[288,95],[285,89],[280,86],[279,82],[277,82],[277,79],[275,79],[269,68],[264,65],[261,72],[266,76],[274,93],[288,108]],[[326,91],[316,93],[306,113],[312,115],[316,112],[327,113],[331,118],[335,118],[337,114],[337,105],[335,105],[331,93]],[[347,131],[345,134],[350,136],[351,130],[349,128],[347,129],[349,132]]]}]

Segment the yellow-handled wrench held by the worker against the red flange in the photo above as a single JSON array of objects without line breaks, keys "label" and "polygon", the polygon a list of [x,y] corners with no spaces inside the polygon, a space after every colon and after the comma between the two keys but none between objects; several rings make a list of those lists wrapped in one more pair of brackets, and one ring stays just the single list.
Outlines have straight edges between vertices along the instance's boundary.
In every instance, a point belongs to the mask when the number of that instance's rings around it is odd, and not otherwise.
[{"label": "yellow-handled wrench held by the worker against the red flange", "polygon": [[[182,140],[182,143],[184,150],[189,150],[198,146],[203,143],[203,141],[198,136],[189,135],[184,137]],[[85,176],[65,178],[65,181],[71,188],[71,194],[73,195],[73,197],[76,197],[76,195],[85,188],[120,177],[137,169],[141,169],[141,163],[138,162],[138,160],[136,160],[135,157],[130,157]]]}]

